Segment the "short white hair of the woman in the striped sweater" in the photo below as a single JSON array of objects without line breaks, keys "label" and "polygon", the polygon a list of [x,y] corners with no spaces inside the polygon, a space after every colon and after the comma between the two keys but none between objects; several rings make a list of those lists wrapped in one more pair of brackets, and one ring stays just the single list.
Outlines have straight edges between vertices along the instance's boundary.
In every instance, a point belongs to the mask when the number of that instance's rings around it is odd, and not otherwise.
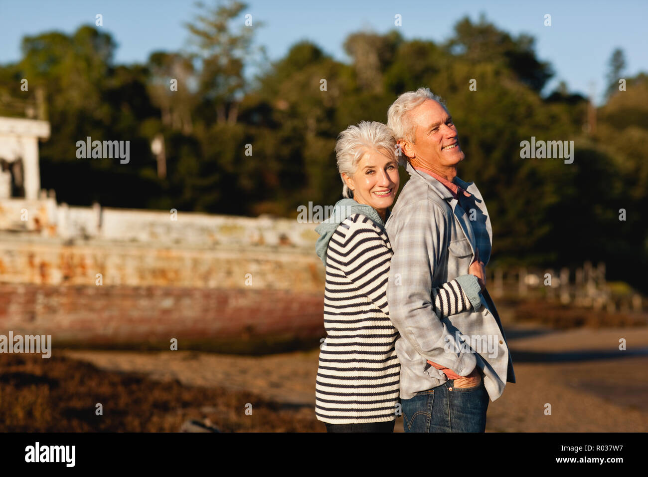
[{"label": "short white hair of the woman in the striped sweater", "polygon": [[386,149],[396,159],[396,138],[391,129],[377,121],[360,121],[357,126],[349,126],[338,136],[335,145],[335,156],[338,161],[338,171],[342,179],[342,195],[353,199],[353,191],[349,189],[342,173],[353,176],[358,169],[358,162],[367,151]]}]

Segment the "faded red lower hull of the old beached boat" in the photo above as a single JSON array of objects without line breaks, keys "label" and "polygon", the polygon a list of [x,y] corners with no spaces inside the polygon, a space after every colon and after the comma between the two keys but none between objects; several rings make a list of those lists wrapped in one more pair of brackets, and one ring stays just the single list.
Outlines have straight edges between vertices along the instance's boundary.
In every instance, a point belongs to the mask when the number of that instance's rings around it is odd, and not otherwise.
[{"label": "faded red lower hull of the old beached boat", "polygon": [[323,294],[268,289],[0,285],[0,334],[52,347],[270,352],[325,336]]}]

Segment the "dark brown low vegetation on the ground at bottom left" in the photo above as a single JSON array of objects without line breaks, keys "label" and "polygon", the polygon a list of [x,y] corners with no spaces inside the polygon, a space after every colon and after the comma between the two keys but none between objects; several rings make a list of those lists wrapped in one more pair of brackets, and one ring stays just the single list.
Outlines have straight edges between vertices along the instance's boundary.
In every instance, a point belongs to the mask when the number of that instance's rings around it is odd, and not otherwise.
[{"label": "dark brown low vegetation on the ground at bottom left", "polygon": [[179,432],[192,419],[221,432],[324,430],[311,409],[246,391],[161,382],[65,357],[0,355],[0,432]]}]

